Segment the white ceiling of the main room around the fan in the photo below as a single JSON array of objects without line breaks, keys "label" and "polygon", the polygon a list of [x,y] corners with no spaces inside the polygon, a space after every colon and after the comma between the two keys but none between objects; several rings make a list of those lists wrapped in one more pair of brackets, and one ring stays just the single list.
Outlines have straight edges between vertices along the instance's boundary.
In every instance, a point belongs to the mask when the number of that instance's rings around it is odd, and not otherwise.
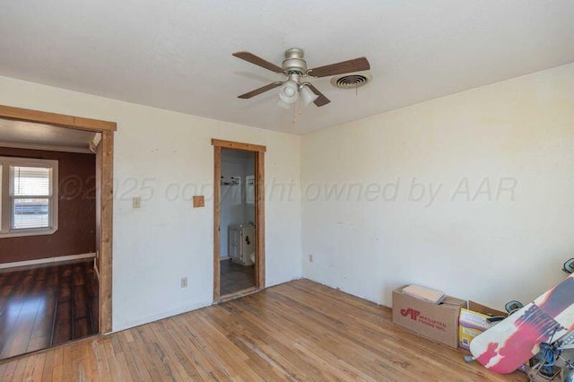
[{"label": "white ceiling of the main room around the fan", "polygon": [[[301,134],[574,62],[572,0],[19,0],[0,12],[0,75],[202,117]],[[280,80],[231,56],[281,65],[305,49],[309,67],[359,56],[373,81],[314,83],[332,103],[291,111]]]}]

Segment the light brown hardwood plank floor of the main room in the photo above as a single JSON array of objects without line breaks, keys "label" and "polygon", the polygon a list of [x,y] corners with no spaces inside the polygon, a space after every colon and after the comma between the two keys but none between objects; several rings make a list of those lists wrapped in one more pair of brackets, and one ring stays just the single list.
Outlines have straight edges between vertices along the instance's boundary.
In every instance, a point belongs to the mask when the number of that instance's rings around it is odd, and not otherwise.
[{"label": "light brown hardwood plank floor of the main room", "polygon": [[0,363],[0,380],[526,381],[308,280]]}]

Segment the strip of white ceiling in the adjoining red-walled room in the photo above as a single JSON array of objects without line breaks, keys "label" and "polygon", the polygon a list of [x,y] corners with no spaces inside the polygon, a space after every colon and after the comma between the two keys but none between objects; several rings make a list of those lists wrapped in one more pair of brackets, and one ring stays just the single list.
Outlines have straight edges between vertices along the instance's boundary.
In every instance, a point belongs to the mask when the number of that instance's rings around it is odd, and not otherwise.
[{"label": "strip of white ceiling in the adjoining red-walled room", "polygon": [[96,135],[100,133],[0,118],[0,146],[5,147],[91,152]]}]

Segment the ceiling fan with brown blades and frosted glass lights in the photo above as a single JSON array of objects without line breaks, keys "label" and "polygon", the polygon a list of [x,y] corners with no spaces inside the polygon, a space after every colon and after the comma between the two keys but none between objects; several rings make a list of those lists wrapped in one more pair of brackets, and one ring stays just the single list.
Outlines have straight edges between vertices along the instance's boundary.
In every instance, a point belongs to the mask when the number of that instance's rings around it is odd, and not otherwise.
[{"label": "ceiling fan with brown blades and frosted glass lights", "polygon": [[274,65],[263,58],[254,55],[250,52],[235,52],[233,56],[264,67],[274,73],[284,74],[287,79],[285,81],[272,82],[254,91],[249,91],[245,94],[238,96],[240,99],[250,99],[265,91],[270,91],[276,87],[281,86],[279,91],[279,105],[285,109],[291,108],[299,96],[303,100],[305,106],[313,102],[317,107],[325,106],[331,102],[329,99],[317,90],[313,84],[306,82],[305,78],[321,78],[330,75],[347,74],[352,72],[360,72],[369,70],[370,65],[366,57],[354,58],[352,60],[343,61],[337,64],[318,66],[312,69],[307,68],[307,62],[303,59],[303,49],[290,48],[285,50],[285,59],[281,66]]}]

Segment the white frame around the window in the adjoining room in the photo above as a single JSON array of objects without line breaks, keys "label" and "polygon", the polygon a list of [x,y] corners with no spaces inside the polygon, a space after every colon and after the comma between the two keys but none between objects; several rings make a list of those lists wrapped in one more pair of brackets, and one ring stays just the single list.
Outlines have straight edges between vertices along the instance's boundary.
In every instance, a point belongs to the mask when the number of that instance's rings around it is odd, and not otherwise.
[{"label": "white frame around the window in the adjoining room", "polygon": [[[57,213],[58,213],[58,175],[57,175],[57,161],[32,159],[32,158],[17,158],[17,157],[0,157],[2,164],[2,188],[0,190],[0,203],[2,204],[2,213],[0,213],[0,238],[16,238],[19,236],[38,236],[38,235],[51,235],[57,231]],[[12,197],[10,196],[10,167],[11,166],[30,166],[30,167],[44,167],[52,169],[50,178],[51,196],[48,227],[45,228],[30,228],[30,229],[12,229]]]}]

